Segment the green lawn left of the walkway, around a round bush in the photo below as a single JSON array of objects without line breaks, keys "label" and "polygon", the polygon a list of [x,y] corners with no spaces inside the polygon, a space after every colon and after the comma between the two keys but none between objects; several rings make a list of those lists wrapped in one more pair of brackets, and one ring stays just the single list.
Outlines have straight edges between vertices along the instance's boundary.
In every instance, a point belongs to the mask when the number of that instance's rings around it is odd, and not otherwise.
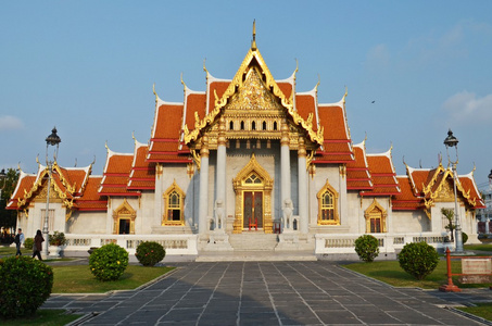
[{"label": "green lawn left of the walkway, around a round bush", "polygon": [[88,265],[52,267],[54,275],[52,293],[101,293],[111,290],[135,289],[174,269],[174,267],[128,265],[118,280],[100,281],[90,273]]}]

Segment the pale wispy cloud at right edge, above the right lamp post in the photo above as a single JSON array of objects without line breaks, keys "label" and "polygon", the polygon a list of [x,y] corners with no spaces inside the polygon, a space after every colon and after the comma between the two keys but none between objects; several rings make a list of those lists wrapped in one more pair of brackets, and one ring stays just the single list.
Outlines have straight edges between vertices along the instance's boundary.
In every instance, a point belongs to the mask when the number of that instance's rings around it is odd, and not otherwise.
[{"label": "pale wispy cloud at right edge, above the right lamp post", "polygon": [[442,104],[451,125],[490,125],[492,123],[492,93],[478,97],[462,91],[453,95]]}]

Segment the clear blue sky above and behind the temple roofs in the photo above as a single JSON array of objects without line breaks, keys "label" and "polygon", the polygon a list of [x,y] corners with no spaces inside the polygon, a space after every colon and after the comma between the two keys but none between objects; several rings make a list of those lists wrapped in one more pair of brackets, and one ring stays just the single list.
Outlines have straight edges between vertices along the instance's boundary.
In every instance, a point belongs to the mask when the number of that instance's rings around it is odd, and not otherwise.
[{"label": "clear blue sky above and behind the temple roofs", "polygon": [[[232,78],[252,23],[274,77],[295,70],[298,91],[320,78],[320,103],[349,89],[354,143],[393,145],[405,162],[436,167],[444,138],[459,139],[458,173],[492,168],[491,1],[1,1],[0,167],[37,170],[56,126],[59,163],[102,174],[105,141],[131,152],[150,137],[152,85],[182,101],[180,74],[205,90],[209,72]],[[371,103],[375,101],[375,103]]]}]

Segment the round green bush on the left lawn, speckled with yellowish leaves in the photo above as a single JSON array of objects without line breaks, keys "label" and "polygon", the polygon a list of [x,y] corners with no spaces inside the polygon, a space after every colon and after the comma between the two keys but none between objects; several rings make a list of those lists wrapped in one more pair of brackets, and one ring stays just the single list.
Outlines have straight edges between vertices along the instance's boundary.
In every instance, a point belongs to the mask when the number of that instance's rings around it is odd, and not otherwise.
[{"label": "round green bush on the left lawn, speckled with yellowish leaves", "polygon": [[89,256],[90,272],[99,280],[116,280],[128,266],[128,252],[115,243],[96,249]]}]

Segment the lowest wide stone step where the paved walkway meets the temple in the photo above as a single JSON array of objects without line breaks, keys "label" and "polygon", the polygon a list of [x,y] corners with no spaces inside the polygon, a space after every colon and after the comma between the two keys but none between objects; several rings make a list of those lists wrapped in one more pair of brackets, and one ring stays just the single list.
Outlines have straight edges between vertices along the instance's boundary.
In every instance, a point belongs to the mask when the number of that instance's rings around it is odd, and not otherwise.
[{"label": "lowest wide stone step where the paved walkway meets the temple", "polygon": [[231,251],[200,252],[195,262],[314,262],[316,255],[312,251]]}]

